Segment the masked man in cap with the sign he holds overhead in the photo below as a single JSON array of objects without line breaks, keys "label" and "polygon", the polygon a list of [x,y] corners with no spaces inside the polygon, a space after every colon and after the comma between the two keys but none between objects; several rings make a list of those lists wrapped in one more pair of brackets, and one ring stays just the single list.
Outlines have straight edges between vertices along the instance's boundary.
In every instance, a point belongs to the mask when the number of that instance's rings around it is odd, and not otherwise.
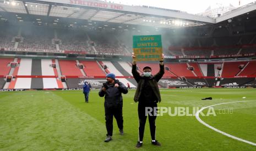
[{"label": "masked man in cap with the sign he holds overhead", "polygon": [[[151,133],[151,143],[156,146],[161,144],[155,140],[155,120],[154,108],[157,107],[157,102],[161,101],[160,91],[157,82],[165,73],[164,69],[164,54],[162,54],[161,35],[156,36],[133,36],[133,66],[132,74],[138,83],[137,90],[134,95],[134,101],[138,104],[139,115],[139,141],[137,148],[143,145],[143,136],[146,123],[146,117],[149,114],[149,125]],[[151,67],[145,66],[143,74],[137,71],[136,61],[160,61],[160,71],[152,75]],[[148,109],[150,108],[150,111]]]}]

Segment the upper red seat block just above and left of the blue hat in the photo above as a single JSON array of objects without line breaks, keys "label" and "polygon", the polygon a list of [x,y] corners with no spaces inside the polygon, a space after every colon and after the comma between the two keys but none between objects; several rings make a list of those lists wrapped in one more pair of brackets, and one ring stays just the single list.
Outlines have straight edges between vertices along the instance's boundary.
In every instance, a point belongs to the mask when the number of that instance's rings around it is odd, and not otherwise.
[{"label": "upper red seat block just above and left of the blue hat", "polygon": [[100,65],[97,63],[97,61],[79,61],[84,65],[84,72],[88,76],[105,76],[106,73],[103,71],[103,69],[100,67]]}]

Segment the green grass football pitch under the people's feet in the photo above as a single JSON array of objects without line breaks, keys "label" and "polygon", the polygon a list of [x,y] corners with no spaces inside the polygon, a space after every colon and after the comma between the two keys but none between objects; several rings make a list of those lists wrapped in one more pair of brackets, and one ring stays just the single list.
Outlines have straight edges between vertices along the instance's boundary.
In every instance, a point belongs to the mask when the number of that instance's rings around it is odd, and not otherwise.
[{"label": "green grass football pitch under the people's feet", "polygon": [[[256,150],[253,144],[216,132],[192,115],[197,108],[217,104],[210,115],[209,108],[204,109],[200,119],[255,144],[256,89],[160,91],[158,106],[168,109],[156,119],[156,140],[162,146],[152,146],[147,120],[140,150]],[[78,90],[0,92],[0,150],[135,150],[138,103],[133,101],[134,93],[129,90],[123,95],[124,135],[119,135],[114,119],[113,140],[105,143],[104,97],[98,90],[90,92],[89,103]],[[201,100],[205,97],[213,100]],[[179,113],[182,109],[186,111]]]}]

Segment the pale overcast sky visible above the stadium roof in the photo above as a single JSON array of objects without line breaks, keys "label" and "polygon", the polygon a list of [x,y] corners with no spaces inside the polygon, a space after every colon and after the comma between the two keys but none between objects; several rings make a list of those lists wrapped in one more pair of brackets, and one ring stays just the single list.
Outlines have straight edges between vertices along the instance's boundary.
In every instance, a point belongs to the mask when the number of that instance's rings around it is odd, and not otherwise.
[{"label": "pale overcast sky visible above the stadium roof", "polygon": [[[240,5],[239,5],[240,1]],[[202,13],[210,5],[232,4],[234,7],[241,7],[256,0],[107,0],[107,2],[121,3],[125,5],[148,5],[153,7],[168,8],[186,11],[190,14]]]}]

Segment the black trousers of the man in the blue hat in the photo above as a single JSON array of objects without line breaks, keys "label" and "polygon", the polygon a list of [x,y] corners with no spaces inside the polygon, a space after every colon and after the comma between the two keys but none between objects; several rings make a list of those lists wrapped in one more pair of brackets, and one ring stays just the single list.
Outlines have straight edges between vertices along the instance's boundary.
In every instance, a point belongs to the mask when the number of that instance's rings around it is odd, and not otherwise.
[{"label": "black trousers of the man in the blue hat", "polygon": [[113,135],[113,117],[117,120],[119,129],[123,129],[123,107],[106,107],[105,106],[105,120],[107,128],[107,136]]}]

